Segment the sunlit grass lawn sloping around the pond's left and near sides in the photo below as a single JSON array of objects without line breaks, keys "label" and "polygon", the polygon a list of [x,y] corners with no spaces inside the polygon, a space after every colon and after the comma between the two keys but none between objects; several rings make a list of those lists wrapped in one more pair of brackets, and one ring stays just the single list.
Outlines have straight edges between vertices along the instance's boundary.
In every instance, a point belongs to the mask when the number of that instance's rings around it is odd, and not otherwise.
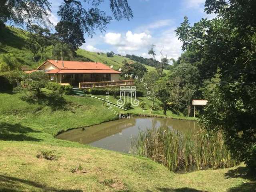
[{"label": "sunlit grass lawn sloping around the pond's left and near sides", "polygon": [[[116,116],[95,98],[64,96],[66,107],[53,110],[50,104],[31,104],[20,96],[0,93],[0,191],[252,192],[256,189],[256,182],[244,176],[243,164],[178,174],[148,158],[55,139],[60,130],[99,124]],[[58,160],[36,157],[45,150],[53,151]]]}]

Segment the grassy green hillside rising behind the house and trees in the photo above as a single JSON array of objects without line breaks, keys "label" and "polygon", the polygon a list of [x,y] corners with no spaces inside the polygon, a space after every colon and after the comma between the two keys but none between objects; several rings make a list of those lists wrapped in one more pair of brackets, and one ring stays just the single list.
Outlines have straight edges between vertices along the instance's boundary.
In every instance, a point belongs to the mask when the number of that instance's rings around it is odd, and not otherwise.
[{"label": "grassy green hillside rising behind the house and trees", "polygon": [[[0,35],[0,54],[13,54],[18,61],[24,65],[28,66],[31,69],[39,66],[44,60],[52,59],[52,53],[49,50],[45,54],[45,58],[43,60],[39,60],[38,62],[33,61],[33,54],[26,48],[26,40],[28,38],[28,34],[26,31],[14,28],[11,26],[7,26]],[[114,57],[107,57],[106,54],[97,54],[96,52],[90,52],[83,49],[77,50],[78,57],[88,58],[94,62],[101,62],[108,66],[113,66],[115,70],[122,68],[122,61],[127,60],[128,62],[134,62],[129,58],[123,56],[114,55]],[[148,71],[155,70],[154,67],[144,65]],[[164,70],[167,74],[169,71]]]}]

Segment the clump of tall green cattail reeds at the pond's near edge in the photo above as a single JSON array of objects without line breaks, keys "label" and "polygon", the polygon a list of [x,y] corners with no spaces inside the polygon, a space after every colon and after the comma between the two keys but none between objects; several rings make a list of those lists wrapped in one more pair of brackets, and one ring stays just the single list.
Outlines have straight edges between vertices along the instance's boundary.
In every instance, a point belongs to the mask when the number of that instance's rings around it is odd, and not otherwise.
[{"label": "clump of tall green cattail reeds at the pond's near edge", "polygon": [[172,171],[228,168],[238,163],[231,158],[220,132],[181,134],[161,128],[140,129],[138,138],[132,140],[132,149]]}]

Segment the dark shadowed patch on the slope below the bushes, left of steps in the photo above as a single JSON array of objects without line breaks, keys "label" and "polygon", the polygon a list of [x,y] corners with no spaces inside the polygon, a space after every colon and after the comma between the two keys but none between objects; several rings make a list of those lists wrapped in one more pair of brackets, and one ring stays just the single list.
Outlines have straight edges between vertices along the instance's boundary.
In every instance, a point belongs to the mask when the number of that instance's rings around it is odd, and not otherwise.
[{"label": "dark shadowed patch on the slope below the bushes, left of steps", "polygon": [[58,93],[43,93],[40,94],[36,92],[30,92],[29,94],[25,94],[21,96],[21,100],[26,101],[30,104],[45,104],[49,106],[52,111],[64,109],[67,110],[67,102],[66,100]]}]

